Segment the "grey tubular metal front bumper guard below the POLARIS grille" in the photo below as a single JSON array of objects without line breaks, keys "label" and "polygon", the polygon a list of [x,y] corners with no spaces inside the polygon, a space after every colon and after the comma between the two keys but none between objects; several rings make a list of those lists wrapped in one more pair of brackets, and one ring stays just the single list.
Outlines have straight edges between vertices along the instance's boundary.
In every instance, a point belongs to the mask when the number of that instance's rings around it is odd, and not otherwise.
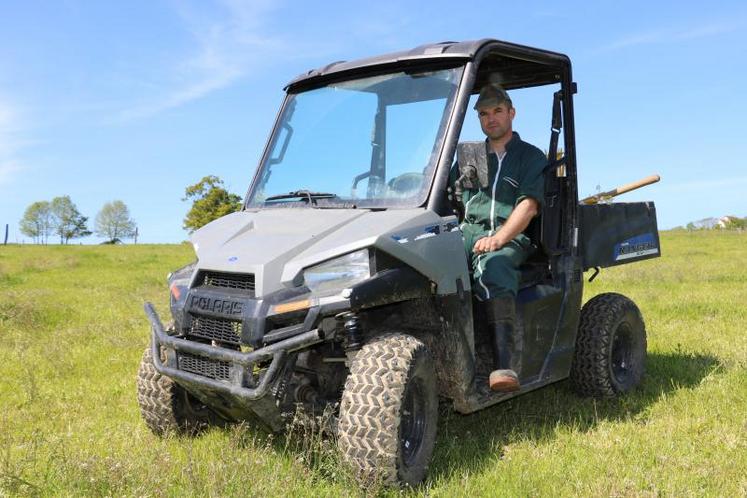
[{"label": "grey tubular metal front bumper guard below the POLARIS grille", "polygon": [[[210,344],[170,336],[163,328],[153,305],[145,303],[145,313],[152,330],[152,357],[156,370],[175,381],[229,395],[242,401],[254,401],[264,397],[282,370],[288,354],[325,340],[321,329],[315,328],[250,352],[215,347]],[[166,360],[161,359],[165,350]],[[179,369],[181,355],[195,357],[226,365],[226,379],[212,379]],[[263,370],[260,366],[269,363]]]}]

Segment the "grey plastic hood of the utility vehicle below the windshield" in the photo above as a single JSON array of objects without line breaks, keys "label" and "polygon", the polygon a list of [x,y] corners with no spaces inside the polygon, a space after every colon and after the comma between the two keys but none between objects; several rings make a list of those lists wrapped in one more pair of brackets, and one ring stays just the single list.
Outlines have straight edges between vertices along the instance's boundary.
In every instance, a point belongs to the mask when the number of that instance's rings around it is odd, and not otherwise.
[{"label": "grey plastic hood of the utility vehicle below the windshield", "polygon": [[262,296],[301,285],[302,271],[372,246],[377,237],[424,210],[265,209],[219,218],[192,235],[197,267],[252,273]]}]

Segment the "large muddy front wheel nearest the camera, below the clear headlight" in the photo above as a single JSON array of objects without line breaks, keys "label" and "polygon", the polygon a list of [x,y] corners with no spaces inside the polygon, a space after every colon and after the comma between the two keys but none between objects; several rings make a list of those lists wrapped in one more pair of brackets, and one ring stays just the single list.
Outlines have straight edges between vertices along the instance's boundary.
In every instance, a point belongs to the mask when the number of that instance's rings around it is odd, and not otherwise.
[{"label": "large muddy front wheel nearest the camera, below the clear headlight", "polygon": [[422,481],[437,421],[436,373],[422,342],[391,334],[361,348],[340,403],[338,445],[364,483]]}]

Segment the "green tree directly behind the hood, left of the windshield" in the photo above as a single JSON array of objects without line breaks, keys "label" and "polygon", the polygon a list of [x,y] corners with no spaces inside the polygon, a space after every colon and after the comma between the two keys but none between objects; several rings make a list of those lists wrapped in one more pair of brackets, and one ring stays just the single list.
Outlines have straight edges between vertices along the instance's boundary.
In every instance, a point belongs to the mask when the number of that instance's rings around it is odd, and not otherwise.
[{"label": "green tree directly behind the hood, left of the windshield", "polygon": [[241,209],[241,197],[223,188],[223,180],[206,176],[187,187],[183,201],[192,201],[192,208],[184,218],[184,229],[189,233],[211,221]]}]

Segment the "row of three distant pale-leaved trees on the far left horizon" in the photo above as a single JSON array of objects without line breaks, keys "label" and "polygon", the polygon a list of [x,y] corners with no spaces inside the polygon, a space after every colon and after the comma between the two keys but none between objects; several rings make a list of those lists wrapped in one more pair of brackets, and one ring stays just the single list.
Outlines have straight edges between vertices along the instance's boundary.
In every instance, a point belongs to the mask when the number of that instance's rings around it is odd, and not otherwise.
[{"label": "row of three distant pale-leaved trees on the far left horizon", "polygon": [[[68,195],[32,203],[23,213],[19,228],[37,244],[47,244],[51,236],[58,236],[60,244],[68,244],[93,233],[88,229],[88,217],[83,216]],[[104,204],[96,215],[94,230],[109,243],[137,237],[137,224],[130,217],[127,205],[119,200]]]}]

